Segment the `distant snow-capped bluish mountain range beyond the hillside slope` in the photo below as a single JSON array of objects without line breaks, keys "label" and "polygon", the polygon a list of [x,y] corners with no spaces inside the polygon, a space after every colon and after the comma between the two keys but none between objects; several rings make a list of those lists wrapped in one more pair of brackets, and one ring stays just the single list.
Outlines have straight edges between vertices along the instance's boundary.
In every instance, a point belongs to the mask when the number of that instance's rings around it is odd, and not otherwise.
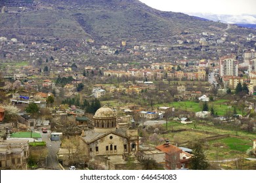
[{"label": "distant snow-capped bluish mountain range beyond the hillside slope", "polygon": [[190,16],[197,16],[215,22],[223,22],[226,24],[236,24],[242,27],[256,28],[256,14],[241,14],[241,15],[228,15],[228,14],[211,14],[200,12],[188,12]]}]

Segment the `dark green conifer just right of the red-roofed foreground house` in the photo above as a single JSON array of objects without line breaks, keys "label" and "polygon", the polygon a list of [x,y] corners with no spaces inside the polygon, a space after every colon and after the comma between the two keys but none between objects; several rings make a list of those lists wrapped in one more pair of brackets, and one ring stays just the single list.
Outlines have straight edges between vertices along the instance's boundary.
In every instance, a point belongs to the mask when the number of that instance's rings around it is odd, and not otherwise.
[{"label": "dark green conifer just right of the red-roofed foreground house", "polygon": [[196,142],[192,148],[192,156],[190,161],[190,169],[205,170],[209,168],[209,163],[206,161],[205,154],[201,142]]}]

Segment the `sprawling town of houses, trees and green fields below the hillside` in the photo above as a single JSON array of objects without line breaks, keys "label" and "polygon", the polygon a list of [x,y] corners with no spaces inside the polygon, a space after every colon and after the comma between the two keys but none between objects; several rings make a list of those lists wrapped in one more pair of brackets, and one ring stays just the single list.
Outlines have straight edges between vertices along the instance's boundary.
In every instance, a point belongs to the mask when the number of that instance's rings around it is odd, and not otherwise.
[{"label": "sprawling town of houses, trees and green fields below the hillside", "polygon": [[[34,10],[15,6],[2,13]],[[256,33],[216,25],[164,41],[0,31],[0,169],[256,169]]]}]

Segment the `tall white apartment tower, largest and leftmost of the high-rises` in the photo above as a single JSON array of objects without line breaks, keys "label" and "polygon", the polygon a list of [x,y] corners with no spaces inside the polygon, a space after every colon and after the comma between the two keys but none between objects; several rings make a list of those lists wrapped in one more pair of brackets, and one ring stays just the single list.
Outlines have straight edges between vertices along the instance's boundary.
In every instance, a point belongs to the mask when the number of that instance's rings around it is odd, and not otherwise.
[{"label": "tall white apartment tower, largest and leftmost of the high-rises", "polygon": [[221,76],[238,76],[238,61],[234,58],[221,59],[220,61]]}]

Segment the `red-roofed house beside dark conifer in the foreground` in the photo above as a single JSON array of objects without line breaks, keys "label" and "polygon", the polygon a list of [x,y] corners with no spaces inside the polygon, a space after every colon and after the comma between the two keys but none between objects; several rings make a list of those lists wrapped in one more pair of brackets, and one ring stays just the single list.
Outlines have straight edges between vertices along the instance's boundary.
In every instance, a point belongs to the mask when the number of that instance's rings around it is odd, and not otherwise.
[{"label": "red-roofed house beside dark conifer in the foreground", "polygon": [[173,146],[169,141],[156,146],[156,149],[165,153],[165,169],[188,169],[190,158],[192,157],[188,152],[184,152],[181,148]]}]

